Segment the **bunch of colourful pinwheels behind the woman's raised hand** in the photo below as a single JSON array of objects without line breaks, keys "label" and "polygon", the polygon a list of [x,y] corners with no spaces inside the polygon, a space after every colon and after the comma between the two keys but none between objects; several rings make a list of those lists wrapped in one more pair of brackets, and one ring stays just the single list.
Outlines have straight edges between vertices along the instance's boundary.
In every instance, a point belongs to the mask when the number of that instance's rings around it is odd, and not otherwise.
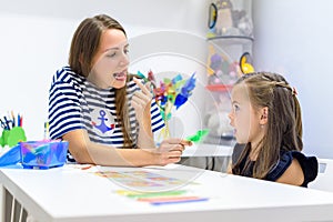
[{"label": "bunch of colourful pinwheels behind the woman's raised hand", "polygon": [[152,71],[149,71],[148,77],[140,71],[138,75],[145,81],[150,81],[153,88],[154,100],[160,108],[161,115],[165,127],[161,131],[163,139],[170,137],[169,120],[172,117],[173,110],[180,109],[191,97],[195,88],[195,72],[189,78],[183,79],[181,74],[172,79],[164,78],[158,85]]}]

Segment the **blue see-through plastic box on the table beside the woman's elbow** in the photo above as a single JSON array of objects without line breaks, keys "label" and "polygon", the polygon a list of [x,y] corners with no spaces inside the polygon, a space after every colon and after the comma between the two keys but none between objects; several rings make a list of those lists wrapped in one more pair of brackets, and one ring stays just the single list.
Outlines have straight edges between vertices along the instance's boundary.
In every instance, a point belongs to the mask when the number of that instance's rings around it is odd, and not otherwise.
[{"label": "blue see-through plastic box on the table beside the woman's elbow", "polygon": [[21,163],[26,169],[50,169],[65,163],[67,141],[20,142]]}]

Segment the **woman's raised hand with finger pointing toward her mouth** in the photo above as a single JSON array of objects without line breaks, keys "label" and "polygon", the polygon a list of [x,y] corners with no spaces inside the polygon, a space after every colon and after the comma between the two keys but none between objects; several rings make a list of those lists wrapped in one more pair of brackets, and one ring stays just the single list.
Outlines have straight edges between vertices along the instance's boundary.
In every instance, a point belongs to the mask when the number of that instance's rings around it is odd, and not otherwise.
[{"label": "woman's raised hand with finger pointing toward her mouth", "polygon": [[150,118],[150,105],[153,94],[150,90],[150,82],[142,84],[137,78],[133,78],[133,81],[141,90],[134,92],[131,105],[135,110],[135,117],[139,124],[142,124],[145,118]]}]

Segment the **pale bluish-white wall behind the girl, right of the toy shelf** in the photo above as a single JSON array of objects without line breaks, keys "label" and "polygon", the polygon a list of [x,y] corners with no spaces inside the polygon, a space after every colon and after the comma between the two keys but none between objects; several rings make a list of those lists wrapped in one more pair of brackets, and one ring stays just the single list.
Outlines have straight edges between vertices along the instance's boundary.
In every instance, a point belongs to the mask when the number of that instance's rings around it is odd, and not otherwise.
[{"label": "pale bluish-white wall behind the girl, right of the toy shelf", "polygon": [[332,9],[331,0],[253,0],[255,68],[297,89],[304,151],[321,158],[333,158]]}]

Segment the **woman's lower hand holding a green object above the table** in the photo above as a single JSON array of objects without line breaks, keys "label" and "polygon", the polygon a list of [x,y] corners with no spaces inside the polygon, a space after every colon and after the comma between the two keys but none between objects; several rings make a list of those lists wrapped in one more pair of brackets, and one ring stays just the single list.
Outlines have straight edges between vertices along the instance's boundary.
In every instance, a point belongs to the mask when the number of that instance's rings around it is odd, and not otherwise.
[{"label": "woman's lower hand holding a green object above the table", "polygon": [[185,150],[185,145],[192,145],[192,142],[178,138],[163,140],[160,147],[154,151],[158,157],[158,165],[167,165],[169,163],[179,162],[183,151]]}]

